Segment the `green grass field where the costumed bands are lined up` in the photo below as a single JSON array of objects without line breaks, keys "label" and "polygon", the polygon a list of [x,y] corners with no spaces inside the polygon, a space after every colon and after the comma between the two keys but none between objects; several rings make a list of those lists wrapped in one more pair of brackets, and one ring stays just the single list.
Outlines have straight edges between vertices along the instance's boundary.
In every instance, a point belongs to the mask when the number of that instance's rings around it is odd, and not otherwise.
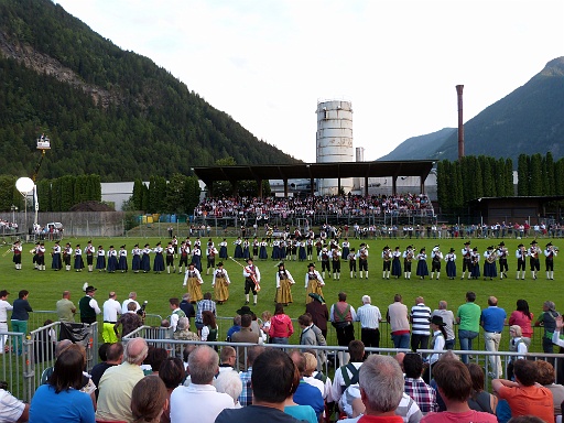
[{"label": "green grass field where the costumed bands are lined up", "polygon": [[[182,235],[182,234],[181,234]],[[181,238],[178,236],[178,238]],[[206,238],[207,239],[207,238]],[[134,243],[139,242],[140,245],[144,245],[149,242],[151,246],[154,246],[159,240],[165,245],[167,242],[167,238],[101,238],[101,239],[93,239],[93,243],[95,246],[102,245],[107,250],[110,245],[119,247],[120,245],[126,243],[128,251],[131,251],[131,248]],[[232,239],[229,240],[229,254],[234,252]],[[370,247],[370,257],[369,257],[369,279],[350,279],[348,272],[348,263],[343,261],[341,263],[341,275],[339,281],[335,281],[333,279],[326,279],[326,285],[324,288],[324,296],[327,301],[328,306],[337,300],[337,294],[340,291],[345,291],[348,294],[348,300],[351,305],[355,307],[361,305],[361,296],[368,294],[372,297],[372,304],[380,307],[382,314],[386,314],[386,310],[388,305],[393,301],[393,295],[395,293],[400,293],[403,295],[403,302],[411,307],[414,304],[414,300],[416,296],[421,295],[425,299],[425,304],[431,306],[432,308],[436,308],[440,300],[445,300],[448,302],[448,308],[452,310],[456,314],[457,307],[464,303],[465,293],[467,291],[475,291],[477,294],[477,304],[481,307],[487,306],[487,297],[489,295],[495,295],[499,300],[499,306],[503,307],[506,312],[509,314],[516,308],[516,301],[518,299],[525,299],[529,302],[531,312],[536,316],[542,311],[542,303],[546,300],[554,301],[556,303],[556,308],[562,307],[562,297],[561,297],[561,289],[560,284],[564,281],[564,272],[560,267],[560,259],[555,260],[555,280],[549,281],[545,278],[544,272],[544,259],[541,258],[541,272],[539,273],[539,279],[533,281],[531,278],[531,272],[527,271],[527,279],[516,280],[516,268],[517,268],[517,259],[514,258],[514,251],[517,249],[518,243],[523,242],[527,247],[531,242],[530,239],[505,239],[506,246],[509,249],[509,269],[508,272],[509,279],[503,280],[494,280],[494,281],[484,281],[481,280],[464,280],[459,279],[462,271],[462,257],[460,249],[464,247],[463,239],[368,239],[366,240]],[[68,239],[64,240],[64,242],[70,242],[74,247],[76,243],[80,243],[84,246],[87,242],[87,239]],[[215,237],[214,241],[218,245],[221,241],[221,238]],[[479,251],[485,251],[486,248],[490,245],[498,245],[499,239],[471,239],[471,247],[478,247]],[[547,239],[540,239],[539,245],[541,248],[544,248],[544,245],[547,242]],[[553,243],[558,245],[560,240],[553,240]],[[351,240],[351,247],[358,249],[360,241]],[[390,246],[392,249],[395,246],[399,246],[401,250],[403,250],[408,245],[414,245],[415,249],[419,250],[422,247],[426,247],[427,249],[427,263],[431,269],[431,249],[435,245],[441,246],[441,250],[443,252],[448,251],[451,247],[456,249],[457,254],[457,272],[458,276],[455,280],[447,280],[445,263],[443,262],[443,272],[441,273],[441,280],[430,280],[426,278],[425,280],[420,280],[415,276],[415,265],[413,265],[413,273],[410,281],[403,279],[382,279],[382,260],[381,260],[381,250],[384,245]],[[45,247],[47,251],[51,251],[51,247],[54,242],[46,242]],[[83,270],[83,272],[75,272],[74,270],[66,272],[62,271],[53,271],[51,270],[51,257],[46,256],[46,271],[35,271],[32,265],[32,254],[29,253],[29,250],[33,247],[32,243],[24,245],[23,252],[23,269],[21,271],[15,271],[13,269],[12,256],[11,253],[7,253],[6,256],[0,257],[0,274],[2,275],[2,281],[0,282],[0,289],[7,289],[11,294],[9,297],[10,302],[13,302],[18,297],[18,291],[25,289],[30,291],[30,304],[36,311],[51,311],[55,308],[55,302],[61,299],[61,294],[64,290],[70,290],[72,300],[75,304],[78,303],[78,300],[83,295],[82,286],[84,282],[88,282],[89,284],[96,286],[98,289],[96,299],[100,306],[104,301],[108,297],[109,291],[116,291],[118,294],[118,300],[123,301],[130,291],[137,291],[138,301],[142,302],[144,300],[149,301],[148,304],[148,313],[161,315],[166,317],[170,315],[169,310],[169,299],[173,296],[181,297],[185,292],[185,289],[182,286],[183,275],[182,274],[154,274],[154,273],[132,273],[131,271],[128,273],[106,273],[106,272],[93,272],[88,273],[87,270]],[[8,250],[9,246],[4,246],[3,251]],[[2,252],[3,252],[2,251]],[[269,248],[269,253],[271,249]],[[315,250],[314,250],[315,254]],[[129,254],[130,256],[130,254]],[[152,261],[152,260],[151,260]],[[314,257],[315,261],[315,257]],[[129,257],[129,262],[131,262],[131,257]],[[276,262],[273,260],[260,261],[258,260],[256,264],[259,267],[261,272],[261,288],[259,294],[259,302],[257,306],[252,306],[251,308],[259,316],[265,310],[273,312],[274,310],[274,293],[275,293],[275,271],[276,271]],[[316,261],[315,261],[316,262]],[[305,306],[305,289],[304,289],[304,276],[307,271],[307,261],[286,261],[286,269],[294,276],[296,284],[293,288],[293,296],[294,302],[286,307],[286,313],[291,317],[297,317],[300,314],[304,312]],[[152,265],[152,263],[151,263]],[[203,279],[204,285],[203,292],[212,291],[212,274],[205,274],[205,259],[203,260],[204,271]],[[316,262],[317,270],[321,271],[321,263]],[[245,279],[242,278],[241,271],[242,269],[231,260],[227,260],[225,262],[225,268],[229,272],[229,276],[231,279],[230,285],[230,299],[229,301],[218,306],[218,315],[232,317],[235,315],[236,310],[238,310],[245,303]],[[480,268],[482,268],[482,261],[480,262]],[[252,302],[252,300],[251,300]],[[34,316],[33,323],[30,325],[33,326],[42,323],[39,322],[43,319],[43,315]],[[154,322],[154,321],[153,321]],[[225,330],[229,326],[229,322],[225,322],[221,325],[221,332],[219,337],[225,337]],[[329,333],[333,329],[329,329]],[[358,334],[359,335],[359,334]],[[531,351],[541,351],[541,336],[542,330],[535,330],[533,337],[533,344]],[[334,336],[328,336],[329,340],[334,339]],[[478,338],[478,346],[482,345],[481,337]],[[297,343],[297,337],[294,336],[294,343]],[[503,335],[502,338],[502,349],[507,349],[509,343],[509,335]],[[392,347],[387,336],[382,336],[381,340],[382,347]],[[475,349],[477,348],[475,346]]]}]

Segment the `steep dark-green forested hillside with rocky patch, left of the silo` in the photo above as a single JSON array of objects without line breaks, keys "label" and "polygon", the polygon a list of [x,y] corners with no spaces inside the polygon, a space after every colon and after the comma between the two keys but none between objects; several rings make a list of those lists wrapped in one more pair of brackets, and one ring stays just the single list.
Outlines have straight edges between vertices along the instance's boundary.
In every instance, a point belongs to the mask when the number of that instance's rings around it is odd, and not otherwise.
[{"label": "steep dark-green forested hillside with rocky patch, left of the silo", "polygon": [[[197,64],[195,64],[197,65]],[[0,0],[0,169],[104,182],[295,160],[258,140],[151,59],[124,52],[50,0]],[[196,88],[196,87],[193,87]]]}]

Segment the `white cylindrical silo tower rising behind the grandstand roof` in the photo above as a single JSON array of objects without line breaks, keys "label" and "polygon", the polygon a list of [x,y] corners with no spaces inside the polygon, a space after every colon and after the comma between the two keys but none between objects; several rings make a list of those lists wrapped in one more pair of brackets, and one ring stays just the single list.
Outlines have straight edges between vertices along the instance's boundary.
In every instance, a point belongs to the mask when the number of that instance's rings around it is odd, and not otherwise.
[{"label": "white cylindrical silo tower rising behind the grandstand roof", "polygon": [[[316,162],[352,162],[352,106],[350,101],[327,100],[317,102]],[[340,180],[345,194],[352,188],[352,180]],[[321,180],[322,194],[338,194],[338,180]]]}]

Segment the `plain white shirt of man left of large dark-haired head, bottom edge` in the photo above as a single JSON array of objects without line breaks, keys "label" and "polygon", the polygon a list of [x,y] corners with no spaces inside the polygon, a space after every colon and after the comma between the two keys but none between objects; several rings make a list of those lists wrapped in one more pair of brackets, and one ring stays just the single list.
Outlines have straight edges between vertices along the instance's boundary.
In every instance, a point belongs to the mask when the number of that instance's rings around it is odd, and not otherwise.
[{"label": "plain white shirt of man left of large dark-haired head, bottom edge", "polygon": [[171,423],[189,421],[214,423],[225,409],[234,409],[234,399],[227,393],[217,392],[212,384],[178,387],[171,394]]}]

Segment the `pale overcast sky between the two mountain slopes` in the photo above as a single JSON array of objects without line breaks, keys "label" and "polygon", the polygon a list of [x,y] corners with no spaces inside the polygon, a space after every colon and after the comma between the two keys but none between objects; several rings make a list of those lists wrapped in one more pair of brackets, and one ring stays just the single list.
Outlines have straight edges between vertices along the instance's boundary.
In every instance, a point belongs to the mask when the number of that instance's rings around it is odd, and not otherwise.
[{"label": "pale overcast sky between the two mountain slopes", "polygon": [[562,0],[55,0],[259,139],[315,162],[317,101],[376,160],[457,126],[564,55]]}]

